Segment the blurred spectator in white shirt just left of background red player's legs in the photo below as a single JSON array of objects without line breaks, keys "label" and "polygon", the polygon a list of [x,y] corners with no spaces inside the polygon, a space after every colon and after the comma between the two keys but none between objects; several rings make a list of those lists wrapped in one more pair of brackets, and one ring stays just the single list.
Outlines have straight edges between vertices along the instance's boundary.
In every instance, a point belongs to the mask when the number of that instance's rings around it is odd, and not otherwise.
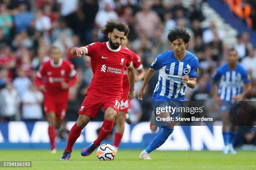
[{"label": "blurred spectator in white shirt just left of background red player's legs", "polygon": [[43,110],[42,103],[44,95],[36,89],[32,83],[27,90],[23,91],[22,98],[22,119],[23,120],[42,120]]}]

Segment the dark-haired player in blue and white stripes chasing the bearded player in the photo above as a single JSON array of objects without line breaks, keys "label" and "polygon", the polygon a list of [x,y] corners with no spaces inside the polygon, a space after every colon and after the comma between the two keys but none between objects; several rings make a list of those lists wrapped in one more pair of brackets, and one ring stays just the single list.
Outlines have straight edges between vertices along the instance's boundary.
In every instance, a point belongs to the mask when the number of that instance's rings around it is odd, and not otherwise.
[{"label": "dark-haired player in blue and white stripes chasing the bearded player", "polygon": [[[172,42],[173,50],[161,53],[151,64],[138,92],[139,100],[142,100],[144,88],[156,70],[159,70],[159,80],[152,96],[153,107],[154,101],[183,101],[186,85],[195,88],[199,62],[195,55],[186,50],[189,39],[190,35],[183,27],[177,26],[169,32],[168,40]],[[149,153],[164,144],[172,134],[175,124],[176,122],[172,121],[167,127],[162,128],[148,147],[141,152],[139,158],[151,159]]]}]

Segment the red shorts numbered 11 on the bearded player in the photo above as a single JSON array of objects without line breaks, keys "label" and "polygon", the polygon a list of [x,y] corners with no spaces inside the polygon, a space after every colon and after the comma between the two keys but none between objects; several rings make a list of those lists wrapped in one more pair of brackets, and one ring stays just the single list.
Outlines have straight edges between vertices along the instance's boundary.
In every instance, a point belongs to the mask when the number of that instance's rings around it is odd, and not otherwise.
[{"label": "red shorts numbered 11 on the bearded player", "polygon": [[119,112],[121,97],[98,97],[94,95],[87,95],[82,102],[78,111],[79,114],[88,115],[94,118],[103,106],[105,111],[108,107],[115,109]]}]

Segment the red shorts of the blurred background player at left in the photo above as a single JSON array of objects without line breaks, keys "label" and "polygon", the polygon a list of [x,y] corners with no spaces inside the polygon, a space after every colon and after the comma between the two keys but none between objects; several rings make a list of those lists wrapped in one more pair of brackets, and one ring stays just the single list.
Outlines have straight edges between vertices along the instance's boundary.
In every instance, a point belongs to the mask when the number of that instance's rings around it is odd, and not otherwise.
[{"label": "red shorts of the blurred background player at left", "polygon": [[56,102],[44,95],[44,112],[47,114],[49,112],[54,112],[56,118],[63,120],[67,112],[67,100],[65,102]]}]

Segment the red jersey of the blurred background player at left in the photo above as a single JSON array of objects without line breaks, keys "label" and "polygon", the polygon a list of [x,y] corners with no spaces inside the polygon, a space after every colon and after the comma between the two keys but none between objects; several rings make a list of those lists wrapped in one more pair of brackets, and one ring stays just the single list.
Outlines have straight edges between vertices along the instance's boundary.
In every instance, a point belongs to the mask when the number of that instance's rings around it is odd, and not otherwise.
[{"label": "red jersey of the blurred background player at left", "polygon": [[40,79],[46,77],[44,95],[51,96],[54,100],[64,101],[68,99],[68,89],[61,89],[61,82],[69,83],[69,78],[76,75],[76,70],[69,60],[61,58],[57,65],[54,64],[53,60],[44,62],[36,75]]}]

